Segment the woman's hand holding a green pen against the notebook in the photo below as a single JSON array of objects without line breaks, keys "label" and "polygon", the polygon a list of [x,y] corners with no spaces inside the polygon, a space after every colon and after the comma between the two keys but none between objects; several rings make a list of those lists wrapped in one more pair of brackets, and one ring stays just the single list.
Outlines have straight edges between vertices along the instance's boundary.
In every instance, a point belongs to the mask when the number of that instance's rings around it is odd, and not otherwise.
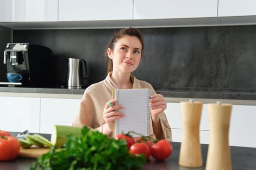
[{"label": "woman's hand holding a green pen against the notebook", "polygon": [[[109,102],[112,103],[112,106],[109,106]],[[103,111],[103,119],[106,122],[104,128],[107,128],[105,129],[105,132],[107,132],[108,135],[113,131],[114,120],[124,117],[123,113],[116,111],[118,109],[122,109],[123,107],[121,105],[115,105],[116,100],[111,100],[109,102],[106,102]]]}]

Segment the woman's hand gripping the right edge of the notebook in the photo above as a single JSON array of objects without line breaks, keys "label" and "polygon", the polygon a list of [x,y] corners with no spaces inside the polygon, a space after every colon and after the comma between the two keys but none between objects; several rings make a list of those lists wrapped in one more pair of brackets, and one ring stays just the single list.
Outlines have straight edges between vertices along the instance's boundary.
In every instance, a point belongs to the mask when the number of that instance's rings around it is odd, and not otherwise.
[{"label": "woman's hand gripping the right edge of the notebook", "polygon": [[161,94],[150,96],[149,101],[152,117],[158,117],[158,115],[167,108],[166,100]]}]

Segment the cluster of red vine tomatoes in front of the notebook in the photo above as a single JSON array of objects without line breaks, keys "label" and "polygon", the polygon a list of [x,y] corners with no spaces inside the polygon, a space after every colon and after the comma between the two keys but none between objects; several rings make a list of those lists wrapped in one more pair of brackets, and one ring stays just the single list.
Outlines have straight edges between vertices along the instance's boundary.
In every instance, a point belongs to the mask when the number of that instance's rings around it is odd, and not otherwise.
[{"label": "cluster of red vine tomatoes in front of the notebook", "polygon": [[145,136],[141,135],[134,138],[130,133],[118,134],[115,138],[126,140],[127,148],[131,155],[144,154],[146,159],[149,159],[150,155],[152,155],[154,159],[163,161],[172,154],[173,148],[169,141],[161,139],[153,143]]}]

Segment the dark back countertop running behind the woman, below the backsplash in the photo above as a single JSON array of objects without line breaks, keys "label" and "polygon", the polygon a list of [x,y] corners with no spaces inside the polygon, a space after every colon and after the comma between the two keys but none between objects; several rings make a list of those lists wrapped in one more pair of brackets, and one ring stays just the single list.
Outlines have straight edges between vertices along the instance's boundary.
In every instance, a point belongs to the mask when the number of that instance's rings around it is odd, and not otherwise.
[{"label": "dark back countertop running behind the woman, below the backsplash", "polygon": [[[200,88],[155,88],[157,93],[166,98],[198,98],[198,99],[228,99],[256,100],[256,89],[200,89]],[[73,94],[82,95],[85,89],[67,88],[28,88],[1,86],[1,92],[7,93],[41,93],[41,94]]]}]

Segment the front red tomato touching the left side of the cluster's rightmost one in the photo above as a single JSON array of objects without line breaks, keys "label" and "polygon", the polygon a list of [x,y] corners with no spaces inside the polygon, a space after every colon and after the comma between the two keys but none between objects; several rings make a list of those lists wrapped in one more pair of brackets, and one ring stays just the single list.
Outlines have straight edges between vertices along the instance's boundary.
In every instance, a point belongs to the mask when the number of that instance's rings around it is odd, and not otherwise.
[{"label": "front red tomato touching the left side of the cluster's rightmost one", "polygon": [[148,159],[150,157],[150,147],[146,143],[135,143],[130,148],[131,155],[145,154],[145,158]]}]

